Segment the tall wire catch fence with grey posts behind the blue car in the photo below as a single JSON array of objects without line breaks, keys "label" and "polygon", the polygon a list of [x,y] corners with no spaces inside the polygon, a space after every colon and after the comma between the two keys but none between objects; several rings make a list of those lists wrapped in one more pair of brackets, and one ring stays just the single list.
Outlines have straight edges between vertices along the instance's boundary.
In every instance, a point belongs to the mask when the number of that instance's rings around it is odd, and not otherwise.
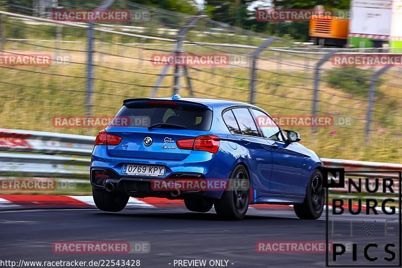
[{"label": "tall wire catch fence with grey posts behind the blue car", "polygon": [[[38,3],[6,1],[0,12],[3,56],[52,59],[48,65],[0,64],[1,127],[95,135],[104,126],[79,126],[82,122],[71,118],[111,118],[124,99],[170,97],[177,92],[182,97],[253,103],[284,129],[298,131],[302,143],[320,156],[400,160],[400,66],[333,64],[334,55],[397,51],[300,45],[206,16],[123,0]],[[93,9],[129,11],[130,19],[54,18],[56,11]],[[226,61],[155,61],[168,55],[218,55]],[[305,124],[306,118],[314,117],[327,121],[316,127]],[[59,124],[66,118],[67,125]]]}]

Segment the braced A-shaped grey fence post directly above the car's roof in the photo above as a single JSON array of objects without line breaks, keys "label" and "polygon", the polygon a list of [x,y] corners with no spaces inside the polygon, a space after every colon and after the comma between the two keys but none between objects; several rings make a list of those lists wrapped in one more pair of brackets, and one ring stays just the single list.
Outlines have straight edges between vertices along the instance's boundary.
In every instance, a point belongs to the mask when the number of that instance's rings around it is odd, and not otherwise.
[{"label": "braced A-shaped grey fence post directly above the car's roof", "polygon": [[[205,15],[201,15],[201,16],[194,16],[194,18],[186,25],[183,27],[183,29],[181,29],[177,35],[176,35],[176,46],[174,48],[174,50],[171,52],[171,55],[173,56],[177,56],[180,53],[183,53],[183,41],[185,38],[185,34],[195,26],[195,24],[201,19],[201,18],[205,18],[207,16]],[[167,71],[169,69],[169,65],[166,64],[165,66],[163,66],[162,71],[159,73],[159,77],[156,80],[156,83],[154,85],[154,88],[151,92],[150,98],[153,98],[156,96],[156,93],[158,92],[158,87],[162,84],[163,78],[166,75]],[[186,75],[188,75],[188,71],[184,70],[184,72],[186,73]],[[173,92],[177,93],[178,90],[181,88],[180,87],[180,77],[181,77],[181,72],[179,70],[179,65],[175,64],[174,65],[174,85],[173,85]],[[189,80],[189,77],[187,76],[187,81]],[[191,88],[191,83],[188,83],[188,87],[190,90],[190,94],[192,94],[192,88]]]}]

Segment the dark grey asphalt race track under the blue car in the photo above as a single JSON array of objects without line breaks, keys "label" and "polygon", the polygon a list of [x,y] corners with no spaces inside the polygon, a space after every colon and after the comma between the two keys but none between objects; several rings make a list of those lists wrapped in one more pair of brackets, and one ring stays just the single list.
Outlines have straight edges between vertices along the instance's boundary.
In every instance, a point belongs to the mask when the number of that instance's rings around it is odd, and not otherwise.
[{"label": "dark grey asphalt race track under the blue car", "polygon": [[[393,215],[397,219],[398,215]],[[362,216],[367,217],[367,216]],[[382,215],[370,216],[380,221]],[[348,229],[355,217],[343,217]],[[140,259],[141,267],[173,267],[175,259],[225,259],[229,267],[323,267],[325,253],[257,253],[257,241],[325,241],[325,216],[297,219],[293,211],[249,210],[242,221],[222,221],[177,209],[14,210],[0,212],[2,259]],[[55,241],[148,241],[147,254],[56,254]],[[170,264],[169,264],[170,263]],[[232,264],[233,263],[233,264]],[[177,267],[177,265],[175,265]]]}]

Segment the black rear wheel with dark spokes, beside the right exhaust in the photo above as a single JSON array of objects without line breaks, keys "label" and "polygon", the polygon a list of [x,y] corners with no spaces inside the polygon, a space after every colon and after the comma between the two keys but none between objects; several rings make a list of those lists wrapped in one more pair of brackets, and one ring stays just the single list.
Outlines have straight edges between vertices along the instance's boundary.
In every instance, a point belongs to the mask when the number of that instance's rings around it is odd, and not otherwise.
[{"label": "black rear wheel with dark spokes, beside the right exhaust", "polygon": [[250,203],[250,188],[237,190],[235,185],[239,185],[237,184],[239,180],[247,180],[247,185],[250,185],[250,177],[246,168],[238,165],[233,169],[230,178],[232,179],[229,180],[230,190],[226,190],[222,198],[214,203],[215,211],[222,219],[240,220],[247,213]]}]

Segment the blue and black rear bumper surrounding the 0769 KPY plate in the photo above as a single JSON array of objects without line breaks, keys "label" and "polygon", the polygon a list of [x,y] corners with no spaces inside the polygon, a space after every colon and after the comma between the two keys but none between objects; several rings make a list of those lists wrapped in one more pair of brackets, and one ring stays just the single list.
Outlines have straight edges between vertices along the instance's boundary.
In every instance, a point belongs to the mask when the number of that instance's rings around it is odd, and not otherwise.
[{"label": "blue and black rear bumper surrounding the 0769 KPY plate", "polygon": [[[123,165],[129,163],[151,164],[165,166],[165,174],[158,177],[134,176],[123,173]],[[221,159],[220,154],[205,151],[191,151],[184,160],[162,160],[111,156],[106,146],[95,146],[91,157],[90,180],[95,189],[105,189],[105,184],[115,184],[118,191],[126,192],[136,197],[167,197],[182,199],[185,195],[197,195],[220,199],[223,190],[208,191],[181,191],[178,197],[172,197],[168,191],[153,191],[151,182],[163,181],[171,178],[205,178],[227,180],[233,166]],[[109,178],[95,178],[93,171],[102,169],[107,171]]]}]

